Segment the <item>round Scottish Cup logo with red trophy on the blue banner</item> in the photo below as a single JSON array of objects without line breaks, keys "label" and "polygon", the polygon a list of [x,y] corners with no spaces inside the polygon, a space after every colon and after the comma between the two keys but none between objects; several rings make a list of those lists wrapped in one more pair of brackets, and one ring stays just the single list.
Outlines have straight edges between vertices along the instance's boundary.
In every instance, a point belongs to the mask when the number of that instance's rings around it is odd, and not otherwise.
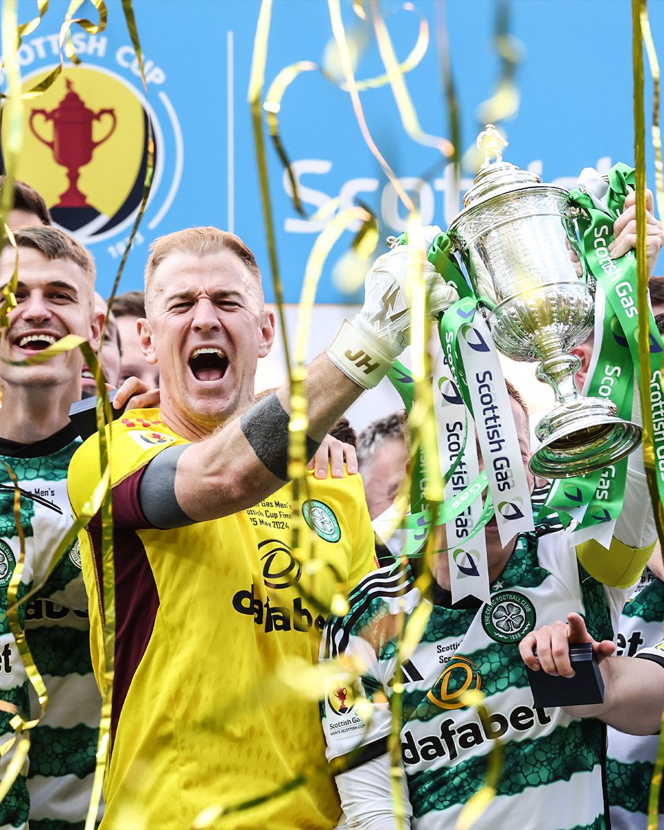
[{"label": "round Scottish Cup logo with red trophy on the blue banner", "polygon": [[[44,40],[23,41],[26,90],[53,68]],[[164,71],[148,61],[146,96],[131,46],[115,48],[106,35],[81,33],[76,48],[85,53],[81,66],[66,66],[49,89],[25,102],[16,173],[41,193],[57,225],[87,245],[105,242],[102,250],[115,258],[139,211],[150,149],[154,178],[145,229],[154,230],[173,204],[183,170],[182,131]],[[7,139],[3,123],[2,145]]]}]

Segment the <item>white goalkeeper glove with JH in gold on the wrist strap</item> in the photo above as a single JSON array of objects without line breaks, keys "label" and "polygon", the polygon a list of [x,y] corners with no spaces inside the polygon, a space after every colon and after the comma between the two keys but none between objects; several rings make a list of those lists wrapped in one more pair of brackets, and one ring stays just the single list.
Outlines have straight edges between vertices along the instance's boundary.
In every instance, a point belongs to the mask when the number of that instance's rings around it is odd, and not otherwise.
[{"label": "white goalkeeper glove with JH in gold on the wrist strap", "polygon": [[398,245],[378,256],[364,283],[364,305],[353,322],[344,320],[327,354],[334,365],[365,389],[374,388],[388,373],[393,360],[408,345],[410,331],[410,286],[413,257],[421,261],[427,286],[429,310],[441,314],[459,297],[443,281],[427,250],[441,230],[422,228],[426,250]]}]

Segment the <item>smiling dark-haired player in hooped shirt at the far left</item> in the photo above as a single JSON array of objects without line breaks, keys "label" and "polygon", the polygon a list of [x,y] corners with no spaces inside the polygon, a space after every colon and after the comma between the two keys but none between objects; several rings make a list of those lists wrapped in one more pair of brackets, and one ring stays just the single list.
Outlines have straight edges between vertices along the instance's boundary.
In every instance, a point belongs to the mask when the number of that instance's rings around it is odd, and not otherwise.
[{"label": "smiling dark-haired player in hooped shirt at the far left", "polygon": [[[81,397],[81,351],[35,365],[15,365],[77,334],[93,348],[103,315],[93,305],[95,266],[88,251],[54,227],[15,230],[17,307],[0,334],[0,610],[21,552],[14,518],[14,486],[21,488],[25,562],[19,595],[43,582],[52,554],[71,527],[67,466],[81,438],[69,409]],[[14,251],[0,258],[0,281],[14,270]],[[19,610],[27,642],[46,682],[49,706],[32,730],[30,765],[0,805],[2,827],[67,828],[85,821],[95,770],[100,696],[92,676],[87,600],[77,546],[56,564],[37,598]],[[10,720],[30,714],[28,684],[7,621],[0,628],[0,742],[13,734]],[[34,705],[34,702],[33,702]],[[37,707],[38,710],[38,707]],[[34,712],[37,714],[37,712]],[[2,762],[5,769],[7,756]],[[26,780],[27,772],[27,780]],[[28,792],[29,791],[29,792]]]}]

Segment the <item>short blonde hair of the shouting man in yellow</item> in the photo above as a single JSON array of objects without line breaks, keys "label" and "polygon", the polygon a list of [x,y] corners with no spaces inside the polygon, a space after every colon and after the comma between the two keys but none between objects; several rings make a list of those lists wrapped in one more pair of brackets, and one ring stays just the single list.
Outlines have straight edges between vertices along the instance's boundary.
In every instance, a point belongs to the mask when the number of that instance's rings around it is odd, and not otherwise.
[{"label": "short blonde hair of the shouting man in yellow", "polygon": [[218,227],[186,227],[183,231],[167,233],[164,237],[155,239],[149,247],[150,255],[145,266],[145,309],[149,315],[152,305],[150,284],[161,263],[173,253],[192,254],[193,256],[208,256],[219,251],[231,251],[246,266],[254,277],[258,299],[261,305],[264,302],[261,269],[256,264],[256,257],[234,233],[222,231]]}]

